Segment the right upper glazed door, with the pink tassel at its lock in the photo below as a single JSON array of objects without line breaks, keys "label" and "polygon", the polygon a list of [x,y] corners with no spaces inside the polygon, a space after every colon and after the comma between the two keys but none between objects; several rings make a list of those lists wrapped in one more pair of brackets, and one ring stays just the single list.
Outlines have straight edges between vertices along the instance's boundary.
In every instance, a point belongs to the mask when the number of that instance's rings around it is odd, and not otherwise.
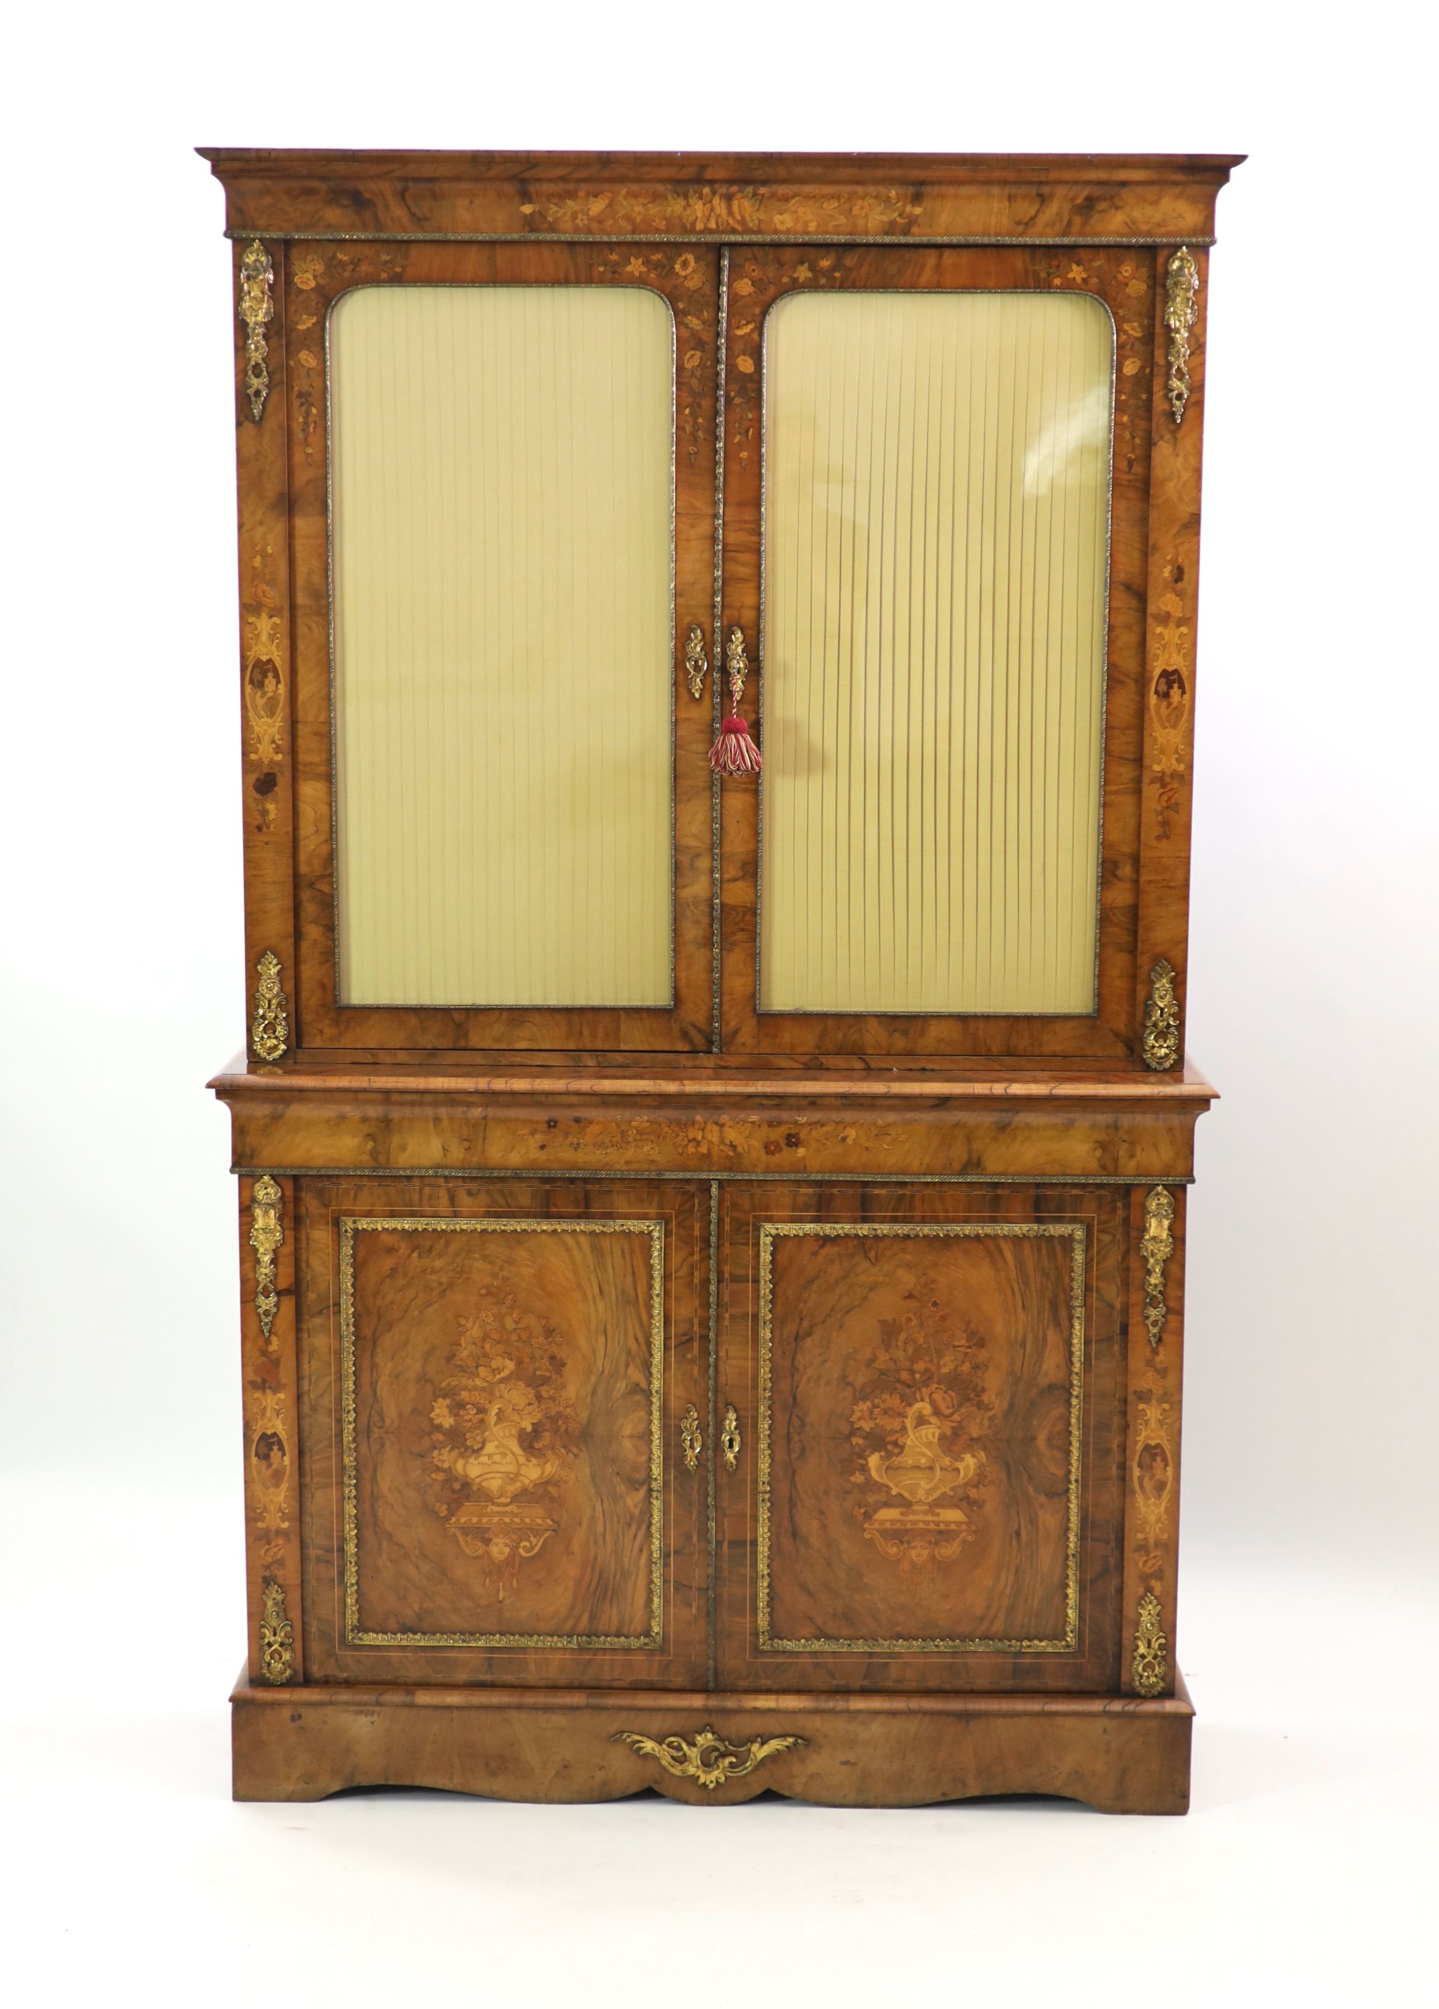
[{"label": "right upper glazed door, with the pink tassel at its lock", "polygon": [[727,291],[725,1047],[1132,1057],[1156,253],[745,245]]}]

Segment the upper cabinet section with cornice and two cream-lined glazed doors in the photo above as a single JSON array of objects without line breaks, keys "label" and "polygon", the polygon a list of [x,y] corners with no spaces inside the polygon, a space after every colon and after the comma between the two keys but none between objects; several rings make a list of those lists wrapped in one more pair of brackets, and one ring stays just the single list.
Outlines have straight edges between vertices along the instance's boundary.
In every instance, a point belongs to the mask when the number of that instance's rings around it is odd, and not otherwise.
[{"label": "upper cabinet section with cornice and two cream-lined glazed doors", "polygon": [[257,1059],[1180,1063],[1232,159],[207,157]]}]

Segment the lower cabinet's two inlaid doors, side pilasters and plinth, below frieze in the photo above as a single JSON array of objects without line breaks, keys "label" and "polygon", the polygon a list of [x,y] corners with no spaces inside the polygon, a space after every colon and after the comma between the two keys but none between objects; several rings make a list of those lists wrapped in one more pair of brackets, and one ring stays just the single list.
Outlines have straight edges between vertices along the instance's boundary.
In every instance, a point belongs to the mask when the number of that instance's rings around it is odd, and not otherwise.
[{"label": "lower cabinet's two inlaid doors, side pilasters and plinth, below frieze", "polygon": [[1182,1187],[265,1175],[243,1203],[243,1796],[1182,1810]]}]

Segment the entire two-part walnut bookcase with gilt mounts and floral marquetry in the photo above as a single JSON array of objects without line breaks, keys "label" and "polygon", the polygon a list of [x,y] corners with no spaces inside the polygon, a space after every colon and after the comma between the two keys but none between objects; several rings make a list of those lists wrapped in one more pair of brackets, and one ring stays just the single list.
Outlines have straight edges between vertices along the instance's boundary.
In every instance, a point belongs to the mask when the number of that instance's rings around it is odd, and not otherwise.
[{"label": "entire two-part walnut bookcase with gilt mounts and floral marquetry", "polygon": [[1182,1812],[1234,159],[205,157],[237,1796]]}]

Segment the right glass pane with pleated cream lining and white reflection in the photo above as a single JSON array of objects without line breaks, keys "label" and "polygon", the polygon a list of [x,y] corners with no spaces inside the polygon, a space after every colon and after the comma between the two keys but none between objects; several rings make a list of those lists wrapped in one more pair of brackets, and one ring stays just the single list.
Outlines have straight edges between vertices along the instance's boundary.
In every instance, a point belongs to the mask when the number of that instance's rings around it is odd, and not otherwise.
[{"label": "right glass pane with pleated cream lining and white reflection", "polygon": [[1112,376],[1086,295],[771,309],[761,1011],[1096,1009]]}]

